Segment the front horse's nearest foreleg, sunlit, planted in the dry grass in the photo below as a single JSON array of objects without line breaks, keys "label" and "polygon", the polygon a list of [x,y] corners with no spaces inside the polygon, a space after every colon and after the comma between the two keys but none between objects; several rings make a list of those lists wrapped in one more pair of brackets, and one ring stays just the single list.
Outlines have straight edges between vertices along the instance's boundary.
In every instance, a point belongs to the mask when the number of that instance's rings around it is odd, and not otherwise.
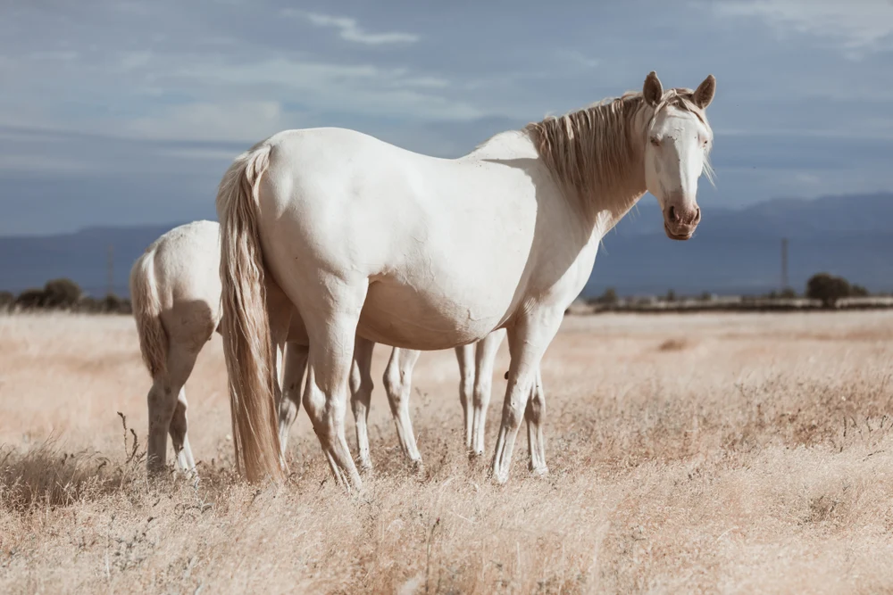
[{"label": "front horse's nearest foreleg, sunlit, planted in the dry grass", "polygon": [[505,388],[502,425],[493,455],[493,477],[498,483],[505,483],[508,479],[514,440],[536,384],[539,362],[558,332],[562,318],[563,310],[533,310],[526,312],[524,318],[508,328],[512,363]]}]

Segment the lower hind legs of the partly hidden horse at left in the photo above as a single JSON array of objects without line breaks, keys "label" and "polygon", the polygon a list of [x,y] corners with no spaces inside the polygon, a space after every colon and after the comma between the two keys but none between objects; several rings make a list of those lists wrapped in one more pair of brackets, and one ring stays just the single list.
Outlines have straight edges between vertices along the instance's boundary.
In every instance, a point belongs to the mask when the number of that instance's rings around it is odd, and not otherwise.
[{"label": "lower hind legs of the partly hidden horse at left", "polygon": [[[186,421],[186,392],[184,384],[201,349],[194,349],[189,343],[171,341],[167,365],[163,374],[154,378],[148,394],[149,436],[147,463],[149,471],[163,471],[167,459],[167,437],[171,434],[173,450],[184,471],[194,471],[191,450],[188,448]],[[175,417],[175,413],[177,414]],[[191,464],[190,464],[191,463]],[[183,467],[185,465],[185,467]]]}]

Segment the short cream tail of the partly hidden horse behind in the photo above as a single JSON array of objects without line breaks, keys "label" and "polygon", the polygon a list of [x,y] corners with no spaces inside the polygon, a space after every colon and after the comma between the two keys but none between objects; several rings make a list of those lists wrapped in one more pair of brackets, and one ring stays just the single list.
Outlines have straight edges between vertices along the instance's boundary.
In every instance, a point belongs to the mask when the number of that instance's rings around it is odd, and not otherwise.
[{"label": "short cream tail of the partly hidden horse behind", "polygon": [[151,246],[130,269],[130,302],[137,322],[139,351],[153,379],[167,366],[168,336],[162,324],[162,306],[155,283],[155,247]]}]

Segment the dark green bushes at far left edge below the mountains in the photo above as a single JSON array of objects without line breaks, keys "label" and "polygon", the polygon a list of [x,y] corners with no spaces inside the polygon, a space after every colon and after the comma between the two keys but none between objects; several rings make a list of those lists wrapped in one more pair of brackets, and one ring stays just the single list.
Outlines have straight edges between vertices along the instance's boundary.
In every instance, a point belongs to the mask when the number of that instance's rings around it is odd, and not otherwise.
[{"label": "dark green bushes at far left edge below the mountains", "polygon": [[18,295],[0,292],[0,310],[129,314],[130,301],[113,293],[97,299],[84,295],[80,286],[71,279],[53,279],[47,281],[42,289],[26,289]]}]

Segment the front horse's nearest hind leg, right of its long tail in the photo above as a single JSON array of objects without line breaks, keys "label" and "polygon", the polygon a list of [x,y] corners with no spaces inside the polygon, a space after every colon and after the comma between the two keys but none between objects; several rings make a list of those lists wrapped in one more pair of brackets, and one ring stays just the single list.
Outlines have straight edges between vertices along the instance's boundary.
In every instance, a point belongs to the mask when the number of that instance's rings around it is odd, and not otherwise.
[{"label": "front horse's nearest hind leg, right of its long tail", "polygon": [[[349,284],[338,277],[319,271],[316,279],[303,279],[304,286],[326,287],[324,299],[312,304],[300,303],[301,309],[313,311],[304,317],[310,338],[310,359],[304,409],[313,422],[322,450],[338,483],[360,489],[363,482],[350,456],[344,434],[347,385],[354,360],[356,325],[369,289],[368,281]],[[295,294],[295,298],[299,297]],[[315,295],[305,295],[312,298]]]}]

